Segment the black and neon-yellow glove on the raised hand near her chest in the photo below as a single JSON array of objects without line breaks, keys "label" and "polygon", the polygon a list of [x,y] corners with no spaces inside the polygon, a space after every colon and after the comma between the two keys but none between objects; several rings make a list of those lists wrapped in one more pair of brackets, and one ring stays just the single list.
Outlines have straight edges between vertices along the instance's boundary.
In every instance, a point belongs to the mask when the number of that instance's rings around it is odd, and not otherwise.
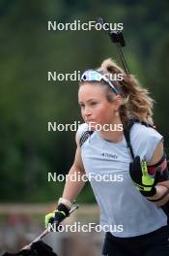
[{"label": "black and neon-yellow glove on the raised hand near her chest", "polygon": [[152,197],[155,195],[156,178],[149,175],[146,161],[141,162],[140,157],[136,156],[133,162],[129,164],[129,174],[143,196]]}]

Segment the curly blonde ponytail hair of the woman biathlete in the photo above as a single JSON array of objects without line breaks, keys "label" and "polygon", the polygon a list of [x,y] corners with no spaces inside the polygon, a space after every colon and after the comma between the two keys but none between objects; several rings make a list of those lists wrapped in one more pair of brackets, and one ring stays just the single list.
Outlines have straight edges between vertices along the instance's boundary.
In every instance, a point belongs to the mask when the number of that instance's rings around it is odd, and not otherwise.
[{"label": "curly blonde ponytail hair of the woman biathlete", "polygon": [[[154,100],[149,96],[149,91],[140,86],[133,75],[127,75],[112,59],[102,62],[98,71],[104,74],[120,90],[124,104],[120,108],[120,116],[124,125],[129,118],[137,118],[148,124],[153,122]],[[123,74],[123,80],[112,80],[113,76]],[[111,101],[112,91],[107,87],[107,100]]]}]

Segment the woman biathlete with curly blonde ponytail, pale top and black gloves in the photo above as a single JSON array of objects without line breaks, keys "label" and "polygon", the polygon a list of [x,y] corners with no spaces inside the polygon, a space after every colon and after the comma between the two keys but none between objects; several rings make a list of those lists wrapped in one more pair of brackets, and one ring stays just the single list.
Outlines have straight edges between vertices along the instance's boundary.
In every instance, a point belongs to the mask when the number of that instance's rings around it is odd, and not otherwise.
[{"label": "woman biathlete with curly blonde ponytail, pale top and black gloves", "polygon": [[[123,74],[123,80],[113,80],[115,74]],[[168,170],[162,136],[149,126],[153,99],[133,76],[108,59],[99,69],[84,72],[78,102],[85,123],[76,133],[69,175],[92,174],[101,226],[121,227],[106,232],[102,254],[168,256],[169,227],[161,208],[169,201]],[[129,132],[134,156],[124,136],[131,119],[137,120]],[[122,125],[124,130],[119,129]],[[69,215],[84,184],[83,178],[66,182],[57,210],[45,216],[46,225],[54,217]]]}]

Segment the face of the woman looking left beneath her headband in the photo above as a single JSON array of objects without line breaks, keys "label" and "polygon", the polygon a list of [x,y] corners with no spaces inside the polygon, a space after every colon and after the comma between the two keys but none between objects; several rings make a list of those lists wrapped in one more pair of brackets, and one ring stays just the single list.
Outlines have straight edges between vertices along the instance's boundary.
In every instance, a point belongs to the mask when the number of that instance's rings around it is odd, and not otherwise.
[{"label": "face of the woman looking left beneath her headband", "polygon": [[85,82],[78,91],[82,117],[86,123],[92,122],[92,125],[93,122],[100,125],[114,123],[115,112],[119,109],[116,102],[118,96],[113,102],[108,102],[101,86]]}]

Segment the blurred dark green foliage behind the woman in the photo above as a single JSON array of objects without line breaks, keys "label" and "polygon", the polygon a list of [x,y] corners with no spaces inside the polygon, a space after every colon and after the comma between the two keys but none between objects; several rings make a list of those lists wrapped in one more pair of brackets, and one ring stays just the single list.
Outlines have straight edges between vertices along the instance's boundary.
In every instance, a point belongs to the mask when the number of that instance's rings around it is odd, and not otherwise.
[{"label": "blurred dark green foliage behind the woman", "polygon": [[[48,31],[47,21],[99,16],[124,23],[129,69],[155,98],[155,123],[168,149],[167,0],[0,0],[1,202],[48,202],[61,195],[64,182],[47,182],[47,173],[69,172],[75,132],[48,132],[47,122],[82,122],[78,82],[47,81],[47,72],[83,71],[107,57],[120,61],[103,31]],[[79,201],[94,202],[89,184]]]}]

